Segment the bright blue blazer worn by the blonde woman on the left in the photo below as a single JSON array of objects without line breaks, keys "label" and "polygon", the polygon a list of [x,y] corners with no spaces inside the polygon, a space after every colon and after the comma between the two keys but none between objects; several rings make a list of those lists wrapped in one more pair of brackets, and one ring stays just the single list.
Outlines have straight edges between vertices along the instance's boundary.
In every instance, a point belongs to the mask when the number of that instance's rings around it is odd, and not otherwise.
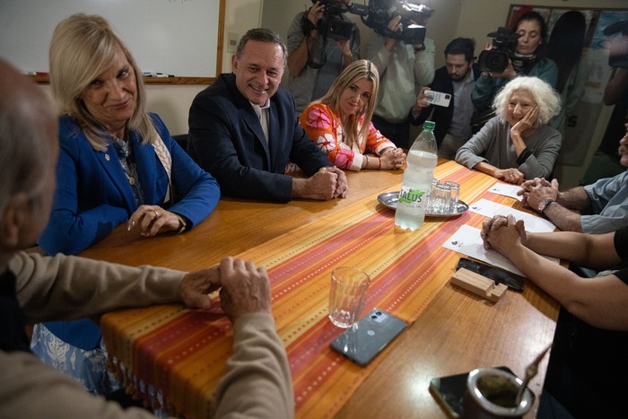
[{"label": "bright blue blazer worn by the blonde woman on the left", "polygon": [[[190,227],[205,220],[220,197],[216,180],[198,167],[170,136],[161,118],[151,114],[172,157],[172,185],[183,198],[169,211],[183,215]],[[126,174],[112,145],[96,151],[74,119],[59,121],[60,153],[57,163],[57,190],[46,230],[39,245],[48,254],[76,254],[102,240],[135,212],[137,204]],[[152,144],[141,144],[131,132],[129,141],[144,192],[144,204],[163,205],[168,174]]]}]

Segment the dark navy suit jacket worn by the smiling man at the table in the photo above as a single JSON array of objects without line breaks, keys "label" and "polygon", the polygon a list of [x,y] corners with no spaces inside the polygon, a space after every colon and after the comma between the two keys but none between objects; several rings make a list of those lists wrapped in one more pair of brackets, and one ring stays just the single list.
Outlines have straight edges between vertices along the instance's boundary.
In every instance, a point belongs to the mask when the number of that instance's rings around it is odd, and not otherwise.
[{"label": "dark navy suit jacket worn by the smiling man at the table", "polygon": [[311,176],[333,166],[299,125],[292,95],[279,88],[270,99],[268,136],[234,74],[221,74],[189,109],[188,153],[218,180],[226,196],[288,202],[288,160]]}]

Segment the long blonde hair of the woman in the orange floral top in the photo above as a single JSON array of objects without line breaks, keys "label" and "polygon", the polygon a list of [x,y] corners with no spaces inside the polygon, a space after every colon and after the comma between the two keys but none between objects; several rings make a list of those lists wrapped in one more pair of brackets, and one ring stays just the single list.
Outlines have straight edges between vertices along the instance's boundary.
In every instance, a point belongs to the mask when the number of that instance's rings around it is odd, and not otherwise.
[{"label": "long blonde hair of the woman in the orange floral top", "polygon": [[[366,79],[373,84],[373,91],[371,92],[371,98],[369,98],[369,101],[364,105],[364,108],[358,109],[358,111],[347,120],[346,124],[348,127],[343,127],[345,130],[345,143],[349,147],[353,146],[353,142],[358,138],[366,138],[369,134],[371,118],[375,110],[375,101],[377,100],[379,90],[379,74],[377,68],[369,60],[361,59],[353,61],[353,63],[347,65],[345,70],[336,78],[327,93],[325,93],[325,96],[318,100],[319,103],[323,103],[331,109],[334,109],[336,113],[339,113],[340,96],[345,92],[345,89],[362,79]],[[358,123],[362,115],[364,116],[364,121],[362,123],[362,129],[358,132]]]}]

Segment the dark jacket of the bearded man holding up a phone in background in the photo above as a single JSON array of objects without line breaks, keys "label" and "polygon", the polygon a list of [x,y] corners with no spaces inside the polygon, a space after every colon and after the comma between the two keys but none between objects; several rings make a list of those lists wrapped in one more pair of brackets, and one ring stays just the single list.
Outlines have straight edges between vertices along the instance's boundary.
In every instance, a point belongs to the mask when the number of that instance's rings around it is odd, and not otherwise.
[{"label": "dark jacket of the bearded man holding up a phone in background", "polygon": [[[481,73],[480,69],[475,64],[472,68],[474,78],[477,80]],[[451,119],[454,118],[454,83],[451,81],[449,74],[447,74],[447,67],[443,66],[436,70],[430,89],[435,92],[449,93],[451,95],[449,106],[444,108],[442,106],[430,105],[427,108],[423,108],[418,117],[414,117],[412,109],[410,109],[410,122],[412,122],[414,126],[423,124],[423,122],[430,117],[433,109],[431,120],[436,124],[436,127],[434,127],[434,136],[436,137],[436,144],[440,147],[442,139],[449,132]]]}]

